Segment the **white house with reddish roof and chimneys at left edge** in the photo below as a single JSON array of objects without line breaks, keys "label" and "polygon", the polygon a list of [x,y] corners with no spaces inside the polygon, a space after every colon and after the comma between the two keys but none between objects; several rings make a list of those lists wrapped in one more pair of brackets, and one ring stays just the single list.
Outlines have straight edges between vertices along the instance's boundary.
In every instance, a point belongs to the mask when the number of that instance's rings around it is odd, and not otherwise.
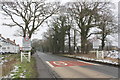
[{"label": "white house with reddish roof and chimneys at left edge", "polygon": [[15,43],[15,40],[5,39],[0,34],[0,53],[18,53],[19,51],[19,45]]}]

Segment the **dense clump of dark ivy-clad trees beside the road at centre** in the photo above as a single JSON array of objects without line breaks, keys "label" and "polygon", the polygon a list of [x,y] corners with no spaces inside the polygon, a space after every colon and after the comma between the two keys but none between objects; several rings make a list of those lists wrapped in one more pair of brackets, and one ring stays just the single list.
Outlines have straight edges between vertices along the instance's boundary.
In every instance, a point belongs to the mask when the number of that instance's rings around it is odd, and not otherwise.
[{"label": "dense clump of dark ivy-clad trees beside the road at centre", "polygon": [[49,25],[48,31],[44,34],[48,45],[51,47],[53,53],[64,53],[65,51],[65,37],[69,36],[69,52],[71,49],[71,37],[70,37],[70,24],[68,22],[67,16],[58,15],[53,18],[52,24]]}]

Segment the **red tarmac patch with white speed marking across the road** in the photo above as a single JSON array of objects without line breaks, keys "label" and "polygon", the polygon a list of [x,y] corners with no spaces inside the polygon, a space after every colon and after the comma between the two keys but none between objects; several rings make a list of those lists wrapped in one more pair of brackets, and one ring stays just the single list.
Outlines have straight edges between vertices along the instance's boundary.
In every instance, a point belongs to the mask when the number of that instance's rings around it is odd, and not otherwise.
[{"label": "red tarmac patch with white speed marking across the road", "polygon": [[92,65],[92,64],[89,64],[89,63],[84,63],[84,62],[79,62],[79,61],[49,61],[49,63],[54,67]]}]

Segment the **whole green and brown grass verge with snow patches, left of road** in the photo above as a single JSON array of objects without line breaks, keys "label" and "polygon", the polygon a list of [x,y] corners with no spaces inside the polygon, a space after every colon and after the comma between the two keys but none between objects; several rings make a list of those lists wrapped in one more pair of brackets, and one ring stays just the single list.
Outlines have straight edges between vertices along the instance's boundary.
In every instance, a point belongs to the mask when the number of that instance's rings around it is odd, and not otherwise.
[{"label": "whole green and brown grass verge with snow patches, left of road", "polygon": [[[5,55],[4,55],[5,56]],[[8,74],[13,74],[12,78],[21,78],[21,75],[24,75],[25,78],[36,78],[36,62],[34,57],[31,58],[31,62],[24,60],[20,62],[20,54],[9,54],[6,55],[5,60],[8,60],[3,67],[4,76]],[[16,72],[11,72],[14,69],[14,66],[18,66]]]}]

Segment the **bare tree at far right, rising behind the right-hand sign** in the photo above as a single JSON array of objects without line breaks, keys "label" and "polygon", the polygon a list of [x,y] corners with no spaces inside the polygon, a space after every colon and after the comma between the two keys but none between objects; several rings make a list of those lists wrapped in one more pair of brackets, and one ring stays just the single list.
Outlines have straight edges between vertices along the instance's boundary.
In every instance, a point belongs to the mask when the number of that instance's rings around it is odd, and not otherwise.
[{"label": "bare tree at far right, rising behind the right-hand sign", "polygon": [[112,11],[107,11],[107,12],[103,12],[103,15],[100,19],[100,26],[98,27],[99,29],[101,29],[100,32],[98,32],[98,39],[101,40],[101,49],[103,50],[105,47],[105,41],[107,41],[106,37],[108,35],[117,33],[117,25],[116,25],[116,20],[115,20],[115,16],[113,15],[113,13],[111,13]]}]

